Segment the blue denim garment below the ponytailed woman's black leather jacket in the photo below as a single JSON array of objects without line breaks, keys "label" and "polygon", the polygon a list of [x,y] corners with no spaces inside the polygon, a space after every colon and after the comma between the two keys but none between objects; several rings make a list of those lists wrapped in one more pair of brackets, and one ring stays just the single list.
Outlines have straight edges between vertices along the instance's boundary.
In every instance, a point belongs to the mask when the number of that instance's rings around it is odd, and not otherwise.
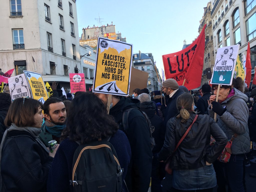
[{"label": "blue denim garment below the ponytailed woman's black leather jacket", "polygon": [[196,169],[173,169],[173,187],[179,190],[209,189],[217,185],[213,165]]}]

